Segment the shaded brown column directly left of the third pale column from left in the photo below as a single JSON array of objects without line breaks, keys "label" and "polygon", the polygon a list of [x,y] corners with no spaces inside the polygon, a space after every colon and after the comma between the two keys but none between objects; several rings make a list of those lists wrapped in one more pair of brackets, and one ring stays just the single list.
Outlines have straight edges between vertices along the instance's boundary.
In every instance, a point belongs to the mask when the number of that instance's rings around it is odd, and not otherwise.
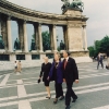
[{"label": "shaded brown column directly left of the third pale column from left", "polygon": [[38,24],[34,23],[36,50],[39,50]]}]

